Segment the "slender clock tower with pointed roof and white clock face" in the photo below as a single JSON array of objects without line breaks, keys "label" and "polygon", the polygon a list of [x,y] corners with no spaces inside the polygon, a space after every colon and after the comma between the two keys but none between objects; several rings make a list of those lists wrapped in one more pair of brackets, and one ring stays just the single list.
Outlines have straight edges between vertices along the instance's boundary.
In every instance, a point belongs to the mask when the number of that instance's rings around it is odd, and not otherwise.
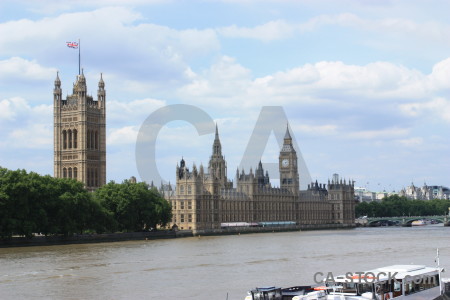
[{"label": "slender clock tower with pointed roof and white clock face", "polygon": [[294,146],[292,145],[292,138],[291,134],[289,133],[289,127],[286,128],[283,147],[280,151],[279,168],[281,188],[287,189],[294,195],[298,196],[300,181],[298,178],[297,153],[295,152]]}]

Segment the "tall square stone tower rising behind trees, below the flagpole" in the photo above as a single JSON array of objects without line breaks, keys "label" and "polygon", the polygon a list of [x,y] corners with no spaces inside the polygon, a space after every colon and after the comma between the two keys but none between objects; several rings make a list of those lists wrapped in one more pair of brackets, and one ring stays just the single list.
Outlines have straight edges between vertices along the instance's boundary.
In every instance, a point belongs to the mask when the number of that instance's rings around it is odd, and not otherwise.
[{"label": "tall square stone tower rising behind trees, below the flagpole", "polygon": [[54,176],[73,178],[90,191],[106,183],[106,91],[100,75],[97,100],[87,94],[84,74],[77,76],[72,95],[62,99],[56,75],[53,90]]}]

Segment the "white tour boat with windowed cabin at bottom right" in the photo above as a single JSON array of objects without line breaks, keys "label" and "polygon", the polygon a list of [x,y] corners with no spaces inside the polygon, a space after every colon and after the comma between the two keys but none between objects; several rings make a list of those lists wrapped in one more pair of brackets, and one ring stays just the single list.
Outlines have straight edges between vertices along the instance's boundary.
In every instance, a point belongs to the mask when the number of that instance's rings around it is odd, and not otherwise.
[{"label": "white tour boat with windowed cabin at bottom right", "polygon": [[[439,267],[393,265],[347,273],[326,282],[326,299],[431,300],[441,295],[440,271]],[[297,299],[294,297],[293,300]]]}]

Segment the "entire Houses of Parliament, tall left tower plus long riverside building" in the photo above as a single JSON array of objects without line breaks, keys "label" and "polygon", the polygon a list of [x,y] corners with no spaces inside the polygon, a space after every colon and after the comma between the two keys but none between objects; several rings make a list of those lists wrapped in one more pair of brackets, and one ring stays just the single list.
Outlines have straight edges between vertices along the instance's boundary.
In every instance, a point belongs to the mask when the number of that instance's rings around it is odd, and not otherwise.
[{"label": "entire Houses of Parliament, tall left tower plus long riverside building", "polygon": [[[87,93],[81,72],[71,95],[62,98],[57,74],[54,103],[54,176],[72,178],[94,191],[106,184],[106,91],[102,76],[97,99]],[[355,220],[354,184],[339,180],[311,183],[300,190],[297,154],[289,129],[279,154],[280,187],[272,187],[262,163],[255,172],[236,170],[227,178],[227,162],[216,126],[207,168],[190,170],[182,159],[176,167],[176,188],[160,192],[172,205],[170,226],[193,232],[218,230],[231,222],[289,222],[320,227],[327,224],[351,227]],[[170,185],[169,185],[170,186]]]}]

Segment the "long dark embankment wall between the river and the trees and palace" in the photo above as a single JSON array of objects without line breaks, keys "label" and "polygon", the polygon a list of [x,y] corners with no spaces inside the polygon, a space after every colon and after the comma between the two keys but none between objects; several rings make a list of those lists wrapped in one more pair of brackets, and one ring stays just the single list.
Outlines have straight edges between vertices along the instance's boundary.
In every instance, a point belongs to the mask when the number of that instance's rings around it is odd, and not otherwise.
[{"label": "long dark embankment wall between the river and the trees and palace", "polygon": [[210,230],[160,230],[153,232],[128,232],[128,233],[105,233],[105,234],[79,234],[73,236],[34,236],[31,239],[25,237],[13,237],[0,240],[0,248],[6,247],[31,247],[70,245],[87,243],[111,243],[136,240],[174,239],[193,236],[234,235],[250,233],[287,232],[304,230],[327,230],[327,229],[352,229],[355,225],[350,224],[321,224],[321,225],[296,225],[286,227],[230,227],[224,229]]}]

